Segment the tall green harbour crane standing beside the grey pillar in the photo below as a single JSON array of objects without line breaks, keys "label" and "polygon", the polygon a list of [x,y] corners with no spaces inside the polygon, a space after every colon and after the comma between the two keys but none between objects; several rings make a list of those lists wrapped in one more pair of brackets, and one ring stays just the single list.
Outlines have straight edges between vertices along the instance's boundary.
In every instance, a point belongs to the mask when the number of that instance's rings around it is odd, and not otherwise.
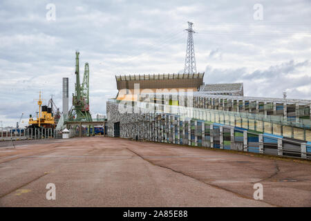
[{"label": "tall green harbour crane standing beside the grey pillar", "polygon": [[[77,122],[91,122],[89,99],[89,69],[88,63],[84,66],[83,82],[79,79],[79,52],[75,52],[75,93],[73,94],[73,106],[70,109],[69,120]],[[88,133],[90,126],[88,126]],[[94,133],[94,130],[93,130]]]}]

